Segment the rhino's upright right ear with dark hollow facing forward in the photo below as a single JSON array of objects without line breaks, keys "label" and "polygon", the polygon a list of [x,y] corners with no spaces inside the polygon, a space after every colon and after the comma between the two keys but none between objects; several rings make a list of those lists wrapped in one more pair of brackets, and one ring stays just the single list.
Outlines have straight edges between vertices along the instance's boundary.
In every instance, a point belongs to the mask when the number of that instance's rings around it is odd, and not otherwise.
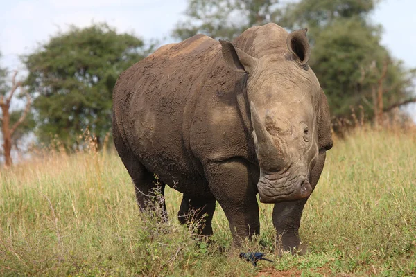
[{"label": "rhino's upright right ear with dark hollow facing forward", "polygon": [[288,35],[288,49],[295,56],[300,64],[305,65],[311,56],[311,47],[309,46],[306,32],[308,29],[295,30]]}]

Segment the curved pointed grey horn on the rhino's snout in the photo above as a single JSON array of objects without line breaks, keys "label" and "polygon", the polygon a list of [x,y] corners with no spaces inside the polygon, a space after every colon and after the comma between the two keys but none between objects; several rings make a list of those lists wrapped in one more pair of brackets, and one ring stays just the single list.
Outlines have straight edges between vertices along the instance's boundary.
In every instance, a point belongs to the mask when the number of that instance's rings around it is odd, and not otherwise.
[{"label": "curved pointed grey horn on the rhino's snout", "polygon": [[257,151],[257,158],[261,169],[266,172],[277,172],[286,165],[286,154],[279,141],[274,141],[261,123],[254,103],[250,103],[251,121],[253,126],[254,145]]}]

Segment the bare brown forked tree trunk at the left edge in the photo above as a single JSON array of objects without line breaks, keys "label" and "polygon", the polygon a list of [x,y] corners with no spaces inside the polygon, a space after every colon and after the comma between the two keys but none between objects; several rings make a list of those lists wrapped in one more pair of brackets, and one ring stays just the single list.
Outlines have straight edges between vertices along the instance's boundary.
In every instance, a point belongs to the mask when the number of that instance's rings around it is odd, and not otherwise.
[{"label": "bare brown forked tree trunk at the left edge", "polygon": [[[26,107],[23,111],[10,111],[10,104],[17,89],[22,89],[21,82],[16,81],[17,71],[12,75],[12,85],[8,87],[6,83],[7,71],[6,69],[0,69],[0,107],[1,107],[1,134],[3,135],[3,156],[4,164],[6,166],[12,166],[12,142],[13,136],[18,131],[21,123],[24,123],[29,109],[31,108],[31,97],[26,94]],[[17,117],[18,116],[18,117]]]}]

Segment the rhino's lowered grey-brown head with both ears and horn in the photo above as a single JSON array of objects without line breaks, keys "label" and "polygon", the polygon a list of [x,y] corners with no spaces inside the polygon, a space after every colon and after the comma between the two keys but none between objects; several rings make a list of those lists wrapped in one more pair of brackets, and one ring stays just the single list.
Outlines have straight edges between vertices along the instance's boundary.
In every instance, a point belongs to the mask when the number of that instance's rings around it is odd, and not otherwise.
[{"label": "rhino's lowered grey-brown head with both ears and horn", "polygon": [[329,116],[319,118],[320,102],[327,108],[327,100],[320,99],[325,96],[308,66],[306,30],[286,37],[280,47],[255,57],[220,41],[225,63],[248,73],[246,97],[260,168],[257,188],[265,203],[309,197],[313,190],[309,177],[321,149],[320,121],[329,125]]}]

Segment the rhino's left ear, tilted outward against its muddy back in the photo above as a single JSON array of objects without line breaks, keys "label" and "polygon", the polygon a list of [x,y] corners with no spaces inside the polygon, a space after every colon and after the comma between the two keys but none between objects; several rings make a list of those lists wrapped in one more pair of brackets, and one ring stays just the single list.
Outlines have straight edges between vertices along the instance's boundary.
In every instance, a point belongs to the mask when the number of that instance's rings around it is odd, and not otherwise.
[{"label": "rhino's left ear, tilted outward against its muddy back", "polygon": [[232,42],[220,39],[220,44],[223,47],[223,58],[225,64],[236,72],[250,73],[259,62],[259,60],[255,57],[252,57],[248,55],[248,53],[236,48]]}]

